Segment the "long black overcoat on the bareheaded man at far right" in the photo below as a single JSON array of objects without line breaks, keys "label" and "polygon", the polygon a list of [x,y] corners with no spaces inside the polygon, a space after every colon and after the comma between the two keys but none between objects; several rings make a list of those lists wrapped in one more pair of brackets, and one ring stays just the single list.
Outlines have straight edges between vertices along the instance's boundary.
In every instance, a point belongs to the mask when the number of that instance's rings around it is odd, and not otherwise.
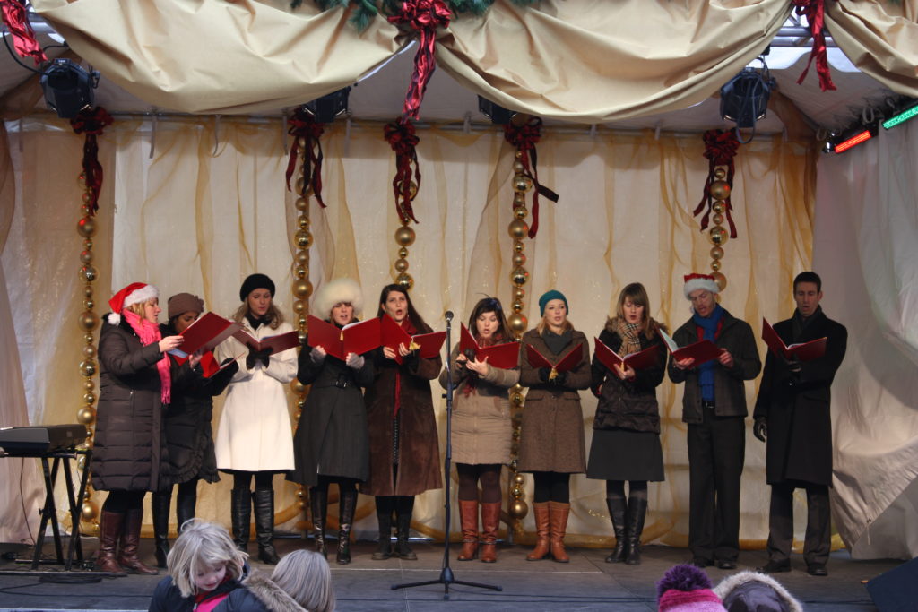
[{"label": "long black overcoat on the bareheaded man at far right", "polygon": [[783,357],[768,351],[753,413],[753,417],[767,419],[768,484],[792,480],[831,486],[831,386],[845,359],[848,330],[820,308],[800,337],[793,337],[792,318],[775,325],[775,331],[788,345],[820,338],[826,341],[825,354],[800,362],[799,373],[791,372]]}]

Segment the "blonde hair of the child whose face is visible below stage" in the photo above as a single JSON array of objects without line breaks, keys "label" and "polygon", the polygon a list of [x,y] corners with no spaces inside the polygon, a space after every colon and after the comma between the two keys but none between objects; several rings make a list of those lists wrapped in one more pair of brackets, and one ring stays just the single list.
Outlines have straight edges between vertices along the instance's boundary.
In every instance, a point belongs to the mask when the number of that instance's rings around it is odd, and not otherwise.
[{"label": "blonde hair of the child whose face is visible below stage", "polygon": [[198,573],[225,563],[227,578],[239,580],[248,557],[248,553],[236,548],[226,529],[192,518],[182,526],[182,533],[166,557],[166,565],[179,593],[190,597],[196,594]]}]

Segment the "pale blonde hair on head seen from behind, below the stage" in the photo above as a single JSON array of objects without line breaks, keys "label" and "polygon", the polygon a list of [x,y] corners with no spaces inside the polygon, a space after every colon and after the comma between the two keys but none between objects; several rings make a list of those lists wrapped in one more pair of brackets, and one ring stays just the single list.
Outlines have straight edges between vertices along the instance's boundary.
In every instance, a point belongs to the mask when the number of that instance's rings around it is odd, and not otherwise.
[{"label": "pale blonde hair on head seen from behind, below the stage", "polygon": [[284,556],[271,580],[309,612],[333,612],[335,591],[325,557],[314,551],[293,551]]}]

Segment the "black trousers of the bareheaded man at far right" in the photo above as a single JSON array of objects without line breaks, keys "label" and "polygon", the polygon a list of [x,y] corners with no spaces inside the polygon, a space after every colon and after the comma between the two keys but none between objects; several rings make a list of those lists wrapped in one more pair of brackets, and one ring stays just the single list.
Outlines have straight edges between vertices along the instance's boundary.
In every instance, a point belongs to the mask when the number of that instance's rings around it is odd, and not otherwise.
[{"label": "black trousers of the bareheaded man at far right", "polygon": [[832,510],[829,487],[825,484],[787,482],[771,485],[768,515],[768,558],[775,562],[790,559],[794,538],[794,489],[806,489],[806,536],[803,559],[807,565],[824,565],[832,546]]}]

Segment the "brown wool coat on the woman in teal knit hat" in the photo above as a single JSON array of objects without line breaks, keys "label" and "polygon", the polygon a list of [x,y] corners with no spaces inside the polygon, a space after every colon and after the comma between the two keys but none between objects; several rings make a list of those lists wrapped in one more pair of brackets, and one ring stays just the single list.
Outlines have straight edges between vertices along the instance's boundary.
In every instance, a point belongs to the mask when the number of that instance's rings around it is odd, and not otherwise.
[{"label": "brown wool coat on the woman in teal knit hat", "polygon": [[539,380],[539,371],[526,358],[526,344],[554,359],[542,336],[530,329],[522,337],[520,384],[529,387],[522,411],[520,435],[521,472],[583,473],[587,471],[586,444],[583,435],[583,409],[577,389],[590,384],[589,345],[582,332],[573,331],[571,343],[562,355],[577,344],[583,355],[577,367],[567,373],[564,386]]}]

